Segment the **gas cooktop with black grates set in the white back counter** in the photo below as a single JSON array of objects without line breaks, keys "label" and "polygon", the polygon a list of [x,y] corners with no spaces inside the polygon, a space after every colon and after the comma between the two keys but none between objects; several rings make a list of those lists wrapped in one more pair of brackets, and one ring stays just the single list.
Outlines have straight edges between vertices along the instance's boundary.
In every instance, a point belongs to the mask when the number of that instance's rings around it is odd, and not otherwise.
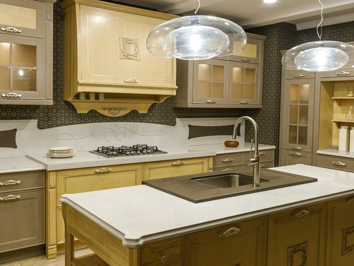
[{"label": "gas cooktop with black grates set in the white back counter", "polygon": [[160,151],[156,146],[148,146],[146,144],[137,144],[133,146],[102,146],[97,150],[89,151],[95,154],[99,154],[105,157],[117,157],[117,156],[132,156],[132,155],[151,155],[151,154],[163,154],[167,153]]}]

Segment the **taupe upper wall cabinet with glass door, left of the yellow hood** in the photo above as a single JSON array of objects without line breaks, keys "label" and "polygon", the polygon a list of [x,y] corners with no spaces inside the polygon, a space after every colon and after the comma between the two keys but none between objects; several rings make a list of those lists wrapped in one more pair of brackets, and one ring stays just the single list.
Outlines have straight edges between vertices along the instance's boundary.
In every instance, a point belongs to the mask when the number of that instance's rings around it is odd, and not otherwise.
[{"label": "taupe upper wall cabinet with glass door, left of the yellow hood", "polygon": [[53,3],[0,0],[0,104],[53,104]]}]

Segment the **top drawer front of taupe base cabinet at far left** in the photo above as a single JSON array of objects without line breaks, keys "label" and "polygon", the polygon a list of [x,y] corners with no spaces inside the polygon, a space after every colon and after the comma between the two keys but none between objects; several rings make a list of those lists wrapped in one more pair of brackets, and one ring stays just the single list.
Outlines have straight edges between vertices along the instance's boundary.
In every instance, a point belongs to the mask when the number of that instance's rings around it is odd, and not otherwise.
[{"label": "top drawer front of taupe base cabinet at far left", "polygon": [[0,174],[0,193],[44,187],[44,171]]}]

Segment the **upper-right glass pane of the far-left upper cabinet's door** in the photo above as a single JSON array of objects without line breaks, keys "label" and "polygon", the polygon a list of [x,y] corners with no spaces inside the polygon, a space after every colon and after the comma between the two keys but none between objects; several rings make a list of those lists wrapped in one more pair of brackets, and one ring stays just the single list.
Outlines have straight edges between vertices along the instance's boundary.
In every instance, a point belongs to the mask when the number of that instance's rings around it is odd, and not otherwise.
[{"label": "upper-right glass pane of the far-left upper cabinet's door", "polygon": [[25,44],[12,45],[13,66],[36,67],[36,46]]}]

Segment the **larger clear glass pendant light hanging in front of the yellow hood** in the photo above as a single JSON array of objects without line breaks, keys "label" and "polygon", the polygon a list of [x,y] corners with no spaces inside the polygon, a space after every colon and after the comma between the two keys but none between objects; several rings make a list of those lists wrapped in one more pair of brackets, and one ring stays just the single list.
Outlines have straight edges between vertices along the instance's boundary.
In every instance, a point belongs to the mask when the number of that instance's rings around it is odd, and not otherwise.
[{"label": "larger clear glass pendant light hanging in front of the yellow hood", "polygon": [[148,35],[150,55],[184,60],[209,59],[239,53],[246,33],[236,23],[214,16],[180,17],[160,24]]}]

